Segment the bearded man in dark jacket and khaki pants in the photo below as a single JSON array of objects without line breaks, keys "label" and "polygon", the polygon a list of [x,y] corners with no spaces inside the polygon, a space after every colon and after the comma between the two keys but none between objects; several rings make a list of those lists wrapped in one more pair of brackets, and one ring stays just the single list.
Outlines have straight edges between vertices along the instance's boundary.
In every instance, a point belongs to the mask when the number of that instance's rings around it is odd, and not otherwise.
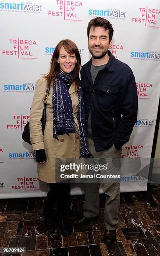
[{"label": "bearded man in dark jacket and khaki pants", "polygon": [[[113,28],[105,18],[90,20],[87,27],[88,48],[92,58],[81,70],[85,100],[87,137],[95,159],[105,159],[111,173],[117,171],[121,148],[129,141],[137,120],[138,97],[135,77],[130,67],[115,59],[108,50]],[[98,184],[83,184],[85,203],[83,215],[75,221],[81,225],[99,215]],[[103,241],[111,245],[116,238],[120,205],[120,184],[102,183],[106,195],[105,232]]]}]

